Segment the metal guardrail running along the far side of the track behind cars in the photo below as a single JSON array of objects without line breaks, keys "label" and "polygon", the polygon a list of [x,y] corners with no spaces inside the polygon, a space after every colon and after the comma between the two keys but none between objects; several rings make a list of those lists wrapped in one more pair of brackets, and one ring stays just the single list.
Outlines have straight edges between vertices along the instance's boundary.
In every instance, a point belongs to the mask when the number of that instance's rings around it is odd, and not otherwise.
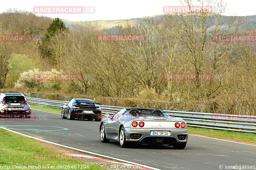
[{"label": "metal guardrail running along the far side of the track behind cars", "polygon": [[[49,100],[26,97],[28,102],[38,106],[62,108],[64,103],[69,101]],[[124,107],[100,105],[102,114],[115,114]],[[232,130],[237,132],[256,133],[256,116],[250,115],[228,115],[198,112],[183,112],[164,110],[167,115],[180,117],[185,120],[188,126],[207,129]]]}]

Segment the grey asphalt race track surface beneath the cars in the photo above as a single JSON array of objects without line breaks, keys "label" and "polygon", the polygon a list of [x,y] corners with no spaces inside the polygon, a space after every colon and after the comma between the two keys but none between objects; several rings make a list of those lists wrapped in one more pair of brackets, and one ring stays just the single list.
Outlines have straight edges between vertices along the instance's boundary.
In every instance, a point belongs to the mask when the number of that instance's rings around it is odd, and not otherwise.
[{"label": "grey asphalt race track surface beneath the cars", "polygon": [[0,121],[0,126],[57,144],[132,161],[158,169],[220,169],[255,166],[256,146],[189,135],[184,150],[172,146],[134,146],[101,143],[100,122],[62,119],[60,114],[33,110],[34,121]]}]

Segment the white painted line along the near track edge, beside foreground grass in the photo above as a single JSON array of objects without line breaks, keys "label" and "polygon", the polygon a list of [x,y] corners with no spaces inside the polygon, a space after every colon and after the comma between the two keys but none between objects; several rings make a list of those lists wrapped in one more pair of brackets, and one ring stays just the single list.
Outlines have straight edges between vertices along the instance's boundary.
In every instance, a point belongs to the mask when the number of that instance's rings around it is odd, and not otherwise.
[{"label": "white painted line along the near track edge, beside foreground grass", "polygon": [[101,155],[101,154],[94,153],[94,152],[84,151],[82,149],[76,149],[76,148],[66,146],[66,145],[62,145],[62,144],[56,144],[56,143],[53,143],[53,142],[50,142],[50,141],[47,141],[47,140],[43,140],[43,139],[39,139],[39,138],[36,138],[36,137],[28,136],[28,135],[25,135],[23,133],[16,132],[16,131],[6,129],[6,128],[3,128],[3,127],[0,127],[0,128],[8,130],[8,131],[13,132],[13,133],[17,133],[17,134],[25,136],[25,137],[30,137],[30,138],[33,138],[33,139],[36,139],[36,140],[40,140],[42,142],[46,142],[46,143],[49,143],[49,144],[55,144],[55,145],[66,147],[66,148],[73,149],[73,150],[76,150],[76,151],[86,152],[86,153],[90,153],[90,154],[93,154],[93,155],[97,155],[97,156],[101,156],[101,157],[105,157],[105,158],[109,158],[109,159],[114,159],[114,160],[118,160],[118,161],[121,161],[121,162],[126,162],[126,163],[129,163],[129,164],[133,164],[133,165],[137,165],[137,166],[141,166],[141,167],[145,167],[145,168],[149,168],[149,169],[161,170],[161,169],[157,169],[157,168],[154,168],[154,167],[145,166],[145,165],[137,164],[137,163],[134,163],[134,162],[131,162],[131,161],[123,160],[123,159],[118,159],[118,158],[114,158],[114,157],[110,157],[110,156],[105,156],[105,155]]}]

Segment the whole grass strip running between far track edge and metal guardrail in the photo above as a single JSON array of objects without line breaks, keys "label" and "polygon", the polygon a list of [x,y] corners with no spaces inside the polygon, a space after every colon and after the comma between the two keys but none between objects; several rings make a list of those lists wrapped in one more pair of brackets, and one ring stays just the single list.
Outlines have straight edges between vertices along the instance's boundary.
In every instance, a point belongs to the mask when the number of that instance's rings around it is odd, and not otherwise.
[{"label": "whole grass strip running between far track edge and metal guardrail", "polygon": [[[61,109],[52,108],[52,107],[44,107],[44,106],[36,106],[30,104],[32,109],[43,110],[47,112],[61,113]],[[102,119],[105,117],[102,116]],[[252,133],[242,133],[242,132],[233,132],[228,130],[213,130],[213,129],[204,129],[204,128],[194,128],[188,127],[188,133],[205,135],[208,137],[217,137],[222,139],[234,139],[244,142],[252,142],[256,143],[256,135]]]}]

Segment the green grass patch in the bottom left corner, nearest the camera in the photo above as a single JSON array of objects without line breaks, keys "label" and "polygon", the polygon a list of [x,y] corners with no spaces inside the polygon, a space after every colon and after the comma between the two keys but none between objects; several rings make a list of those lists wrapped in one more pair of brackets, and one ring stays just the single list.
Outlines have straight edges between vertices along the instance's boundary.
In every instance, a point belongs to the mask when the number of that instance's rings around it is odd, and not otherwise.
[{"label": "green grass patch in the bottom left corner, nearest the camera", "polygon": [[[63,155],[63,157],[62,156],[60,157],[64,159],[54,159],[54,160],[34,159],[34,157],[36,158],[37,154],[39,155],[40,154],[62,155],[62,154],[49,150],[42,144],[38,144],[34,139],[9,132],[2,128],[0,128],[0,153],[1,153],[0,166],[1,167],[10,166],[11,169],[17,169],[17,170],[33,169],[31,168],[31,166],[41,166],[41,167],[45,166],[45,168],[43,169],[49,169],[47,168],[48,166],[52,166],[52,167],[54,166],[55,168],[50,168],[50,169],[57,170],[57,169],[63,169],[63,168],[57,168],[58,166],[68,167],[68,165],[69,165],[68,169],[74,169],[74,170],[80,169],[81,167],[83,167],[83,169],[91,169],[91,170],[102,169],[103,170],[101,166],[92,165],[84,161],[72,159],[67,155]],[[75,165],[76,165],[76,168],[74,168]],[[23,166],[23,168],[21,166]],[[24,166],[27,166],[27,167],[25,168]],[[28,168],[28,166],[30,166],[30,168]],[[4,168],[4,169],[7,169],[7,168]],[[40,168],[37,168],[37,169],[40,169]]]}]

